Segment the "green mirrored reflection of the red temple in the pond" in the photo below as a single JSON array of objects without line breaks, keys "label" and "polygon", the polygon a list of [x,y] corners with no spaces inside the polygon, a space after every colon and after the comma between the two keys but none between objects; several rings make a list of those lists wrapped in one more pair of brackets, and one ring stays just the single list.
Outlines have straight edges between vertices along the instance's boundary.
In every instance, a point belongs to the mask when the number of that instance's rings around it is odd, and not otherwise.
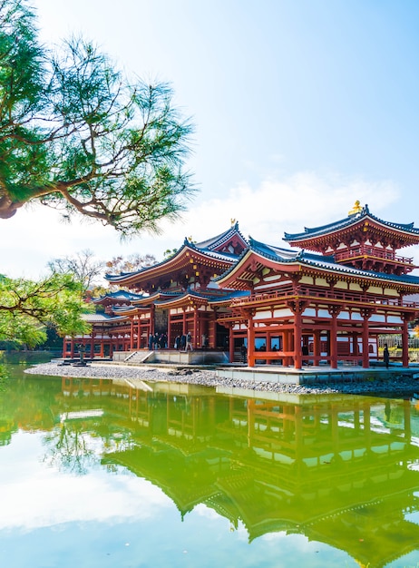
[{"label": "green mirrored reflection of the red temple in the pond", "polygon": [[102,464],[160,486],[182,516],[206,504],[243,523],[249,541],[305,534],[371,567],[417,549],[419,414],[409,400],[149,388],[65,378],[62,396],[68,412],[100,406],[102,420],[129,431]]}]

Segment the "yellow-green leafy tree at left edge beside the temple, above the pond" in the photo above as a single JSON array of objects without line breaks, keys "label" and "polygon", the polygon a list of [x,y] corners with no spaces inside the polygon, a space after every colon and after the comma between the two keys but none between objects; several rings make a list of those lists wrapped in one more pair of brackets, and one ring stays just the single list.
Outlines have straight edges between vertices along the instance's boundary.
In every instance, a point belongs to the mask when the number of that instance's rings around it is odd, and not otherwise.
[{"label": "yellow-green leafy tree at left edge beside the temple, above the pond", "polygon": [[80,282],[68,274],[54,273],[38,282],[1,279],[0,340],[34,348],[46,340],[47,327],[61,336],[88,333],[82,292]]}]

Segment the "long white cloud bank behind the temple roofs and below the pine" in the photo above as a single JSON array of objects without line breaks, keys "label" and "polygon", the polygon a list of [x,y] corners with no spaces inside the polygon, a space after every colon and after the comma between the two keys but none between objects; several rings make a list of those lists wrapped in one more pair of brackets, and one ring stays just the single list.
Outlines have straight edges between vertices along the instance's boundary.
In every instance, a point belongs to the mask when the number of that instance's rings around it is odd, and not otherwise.
[{"label": "long white cloud bank behind the temple roofs and below the pine", "polygon": [[257,187],[242,182],[222,196],[198,195],[182,220],[161,223],[161,235],[144,234],[125,242],[115,230],[97,221],[74,217],[70,224],[63,224],[56,211],[37,206],[0,221],[0,273],[37,278],[48,260],[84,249],[93,250],[102,260],[132,252],[151,253],[161,260],[164,250],[179,247],[185,237],[206,240],[227,230],[232,219],[239,220],[245,237],[286,246],[284,231],[297,232],[305,226],[343,219],[356,200],[368,203],[379,215],[399,200],[399,192],[390,181],[346,180],[314,172],[284,180],[266,178]]}]

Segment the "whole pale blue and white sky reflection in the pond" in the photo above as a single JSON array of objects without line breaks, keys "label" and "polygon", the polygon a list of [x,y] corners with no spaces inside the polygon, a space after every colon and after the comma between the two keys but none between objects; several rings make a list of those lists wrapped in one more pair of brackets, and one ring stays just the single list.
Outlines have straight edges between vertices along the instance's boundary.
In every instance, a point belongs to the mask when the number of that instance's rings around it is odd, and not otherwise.
[{"label": "whole pale blue and white sky reflection in the pond", "polygon": [[181,520],[160,488],[122,468],[59,472],[44,463],[43,437],[15,434],[0,448],[7,568],[300,568],[303,558],[310,568],[356,566],[346,553],[298,534],[266,534],[250,545],[243,524],[233,527],[204,504]]}]

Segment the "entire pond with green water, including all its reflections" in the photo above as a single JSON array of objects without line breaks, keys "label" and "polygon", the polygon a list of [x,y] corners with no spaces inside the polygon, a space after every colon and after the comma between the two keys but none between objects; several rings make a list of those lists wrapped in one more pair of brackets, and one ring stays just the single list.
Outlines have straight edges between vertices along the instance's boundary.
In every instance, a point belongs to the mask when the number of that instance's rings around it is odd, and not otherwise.
[{"label": "entire pond with green water, including all its reflections", "polygon": [[0,566],[419,565],[419,406],[0,366]]}]

